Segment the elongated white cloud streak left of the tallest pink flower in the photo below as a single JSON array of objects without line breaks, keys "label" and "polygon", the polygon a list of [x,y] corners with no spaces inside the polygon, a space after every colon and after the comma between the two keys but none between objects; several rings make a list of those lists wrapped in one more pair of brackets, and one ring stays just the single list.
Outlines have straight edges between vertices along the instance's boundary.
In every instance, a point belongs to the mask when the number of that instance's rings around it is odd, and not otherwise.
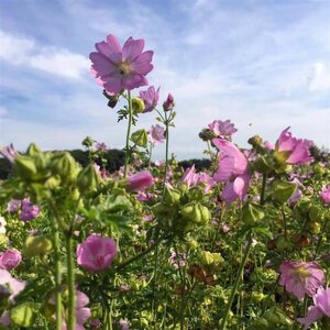
[{"label": "elongated white cloud streak left of the tallest pink flower", "polygon": [[89,61],[77,53],[38,46],[34,40],[0,31],[0,58],[18,66],[28,66],[64,78],[80,79],[88,73]]}]

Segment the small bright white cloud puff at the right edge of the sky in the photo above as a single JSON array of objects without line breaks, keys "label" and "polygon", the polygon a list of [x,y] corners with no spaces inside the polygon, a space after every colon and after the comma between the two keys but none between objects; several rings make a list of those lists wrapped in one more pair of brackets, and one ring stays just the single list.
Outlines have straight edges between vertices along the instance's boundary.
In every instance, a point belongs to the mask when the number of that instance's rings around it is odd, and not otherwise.
[{"label": "small bright white cloud puff at the right edge of the sky", "polygon": [[330,90],[330,65],[321,62],[316,63],[312,66],[308,87],[310,91]]}]

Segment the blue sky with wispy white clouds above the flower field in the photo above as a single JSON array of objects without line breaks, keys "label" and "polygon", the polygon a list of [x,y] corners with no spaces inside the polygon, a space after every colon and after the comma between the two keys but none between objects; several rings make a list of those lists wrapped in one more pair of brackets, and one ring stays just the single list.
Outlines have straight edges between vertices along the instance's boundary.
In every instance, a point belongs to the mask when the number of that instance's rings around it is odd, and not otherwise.
[{"label": "blue sky with wispy white clouds above the flower field", "polygon": [[[89,53],[110,33],[154,51],[147,78],[162,100],[175,97],[178,158],[202,156],[198,132],[215,119],[235,123],[241,146],[254,134],[275,142],[288,125],[330,146],[328,0],[1,1],[2,145],[74,148],[90,135],[123,146],[125,122],[89,74]],[[139,128],[155,117],[142,116]]]}]

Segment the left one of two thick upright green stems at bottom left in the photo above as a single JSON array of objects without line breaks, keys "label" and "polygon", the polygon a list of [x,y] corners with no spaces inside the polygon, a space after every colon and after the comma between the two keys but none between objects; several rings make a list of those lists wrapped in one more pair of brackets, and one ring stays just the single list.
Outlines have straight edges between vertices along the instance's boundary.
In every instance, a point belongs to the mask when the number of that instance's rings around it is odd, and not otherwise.
[{"label": "left one of two thick upright green stems at bottom left", "polygon": [[53,221],[54,229],[54,248],[55,248],[55,292],[56,292],[56,330],[62,329],[62,270],[61,270],[61,250],[59,250],[59,231],[57,221]]}]

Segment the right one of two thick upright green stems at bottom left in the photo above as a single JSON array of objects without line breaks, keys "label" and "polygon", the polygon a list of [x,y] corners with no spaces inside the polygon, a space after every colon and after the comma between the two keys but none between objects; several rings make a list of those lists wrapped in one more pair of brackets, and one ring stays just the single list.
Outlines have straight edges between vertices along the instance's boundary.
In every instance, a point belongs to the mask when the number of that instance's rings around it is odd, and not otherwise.
[{"label": "right one of two thick upright green stems at bottom left", "polygon": [[67,254],[67,286],[68,286],[68,318],[67,329],[74,330],[76,323],[75,314],[75,264],[74,264],[74,246],[70,235],[65,238]]}]

